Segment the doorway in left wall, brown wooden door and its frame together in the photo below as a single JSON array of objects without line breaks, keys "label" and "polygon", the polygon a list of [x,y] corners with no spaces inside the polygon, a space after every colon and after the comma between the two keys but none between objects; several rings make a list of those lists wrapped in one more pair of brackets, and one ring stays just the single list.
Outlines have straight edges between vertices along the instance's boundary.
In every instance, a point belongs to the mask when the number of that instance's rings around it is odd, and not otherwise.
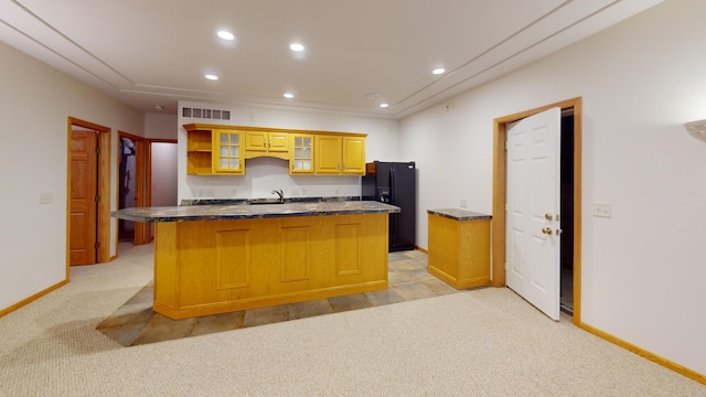
[{"label": "doorway in left wall, brown wooden door and its frame together", "polygon": [[110,129],[68,118],[66,278],[69,266],[110,260]]}]

